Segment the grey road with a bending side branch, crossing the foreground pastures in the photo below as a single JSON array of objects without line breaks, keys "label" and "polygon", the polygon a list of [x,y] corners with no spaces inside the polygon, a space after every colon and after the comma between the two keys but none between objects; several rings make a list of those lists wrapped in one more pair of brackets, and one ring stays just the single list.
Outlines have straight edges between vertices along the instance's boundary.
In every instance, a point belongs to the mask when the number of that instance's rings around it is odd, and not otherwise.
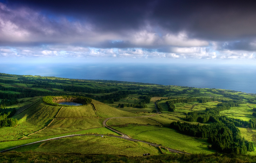
[{"label": "grey road with a bending side branch, crossing the foreground pastures", "polygon": [[[154,115],[156,115],[156,114],[154,114]],[[20,148],[20,147],[23,147],[23,146],[26,146],[26,145],[30,145],[30,144],[40,143],[40,142],[49,141],[49,140],[57,140],[57,139],[61,139],[61,138],[68,138],[68,137],[75,137],[75,136],[109,136],[109,137],[115,137],[115,138],[122,138],[122,139],[130,140],[130,141],[134,141],[134,142],[137,141],[137,142],[147,143],[147,144],[149,144],[151,146],[155,146],[155,147],[167,148],[170,152],[173,152],[173,153],[180,153],[180,154],[191,155],[190,153],[183,152],[183,151],[180,151],[180,150],[171,149],[171,148],[168,148],[168,147],[165,147],[165,146],[162,146],[162,145],[158,145],[158,144],[155,144],[155,143],[146,142],[146,141],[138,140],[138,139],[133,139],[133,138],[129,137],[128,135],[113,129],[110,126],[107,126],[107,124],[106,124],[106,122],[109,119],[113,119],[113,118],[140,118],[140,117],[151,117],[151,116],[154,116],[154,115],[136,116],[136,117],[112,117],[112,118],[107,118],[107,119],[105,119],[102,122],[103,126],[107,127],[111,131],[116,132],[116,133],[118,133],[118,134],[120,134],[122,136],[104,135],[104,134],[75,134],[75,135],[67,135],[67,136],[62,136],[62,137],[56,137],[56,138],[50,138],[50,139],[46,139],[46,140],[41,140],[41,141],[37,141],[37,142],[33,142],[33,143],[28,143],[28,144],[20,145],[20,146],[17,146],[17,147],[14,147],[14,148],[10,148],[10,149],[5,149],[5,150],[0,151],[0,153],[7,152],[7,151],[10,151],[10,150],[13,150],[13,149],[16,149],[16,148]]]}]

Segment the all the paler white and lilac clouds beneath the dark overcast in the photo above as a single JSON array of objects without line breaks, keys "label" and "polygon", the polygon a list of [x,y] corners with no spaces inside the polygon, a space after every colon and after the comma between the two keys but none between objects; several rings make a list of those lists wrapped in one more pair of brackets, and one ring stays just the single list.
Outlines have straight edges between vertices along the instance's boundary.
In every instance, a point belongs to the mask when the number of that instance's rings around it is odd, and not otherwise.
[{"label": "all the paler white and lilac clouds beneath the dark overcast", "polygon": [[[255,59],[255,52],[218,50],[222,49],[218,42],[190,38],[187,31],[159,31],[146,24],[137,31],[110,32],[95,27],[89,21],[69,21],[64,16],[49,18],[36,10],[12,9],[0,3],[2,57]],[[17,46],[19,43],[22,46]],[[228,44],[222,45],[228,47]],[[111,46],[117,50],[106,48]],[[256,41],[250,46],[256,48]],[[158,48],[169,49],[170,53],[158,52],[155,50]]]}]

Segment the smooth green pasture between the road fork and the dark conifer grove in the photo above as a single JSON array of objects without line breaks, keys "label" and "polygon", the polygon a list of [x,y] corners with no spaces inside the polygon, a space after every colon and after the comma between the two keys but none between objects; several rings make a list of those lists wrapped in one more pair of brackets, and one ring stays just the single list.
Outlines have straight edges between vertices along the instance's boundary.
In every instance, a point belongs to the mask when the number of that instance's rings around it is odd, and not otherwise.
[{"label": "smooth green pasture between the road fork and the dark conifer grove", "polygon": [[206,139],[199,139],[178,133],[176,130],[166,127],[154,126],[127,126],[113,127],[120,132],[128,134],[132,138],[162,144],[163,146],[185,151],[188,153],[211,154],[214,150],[209,150]]}]

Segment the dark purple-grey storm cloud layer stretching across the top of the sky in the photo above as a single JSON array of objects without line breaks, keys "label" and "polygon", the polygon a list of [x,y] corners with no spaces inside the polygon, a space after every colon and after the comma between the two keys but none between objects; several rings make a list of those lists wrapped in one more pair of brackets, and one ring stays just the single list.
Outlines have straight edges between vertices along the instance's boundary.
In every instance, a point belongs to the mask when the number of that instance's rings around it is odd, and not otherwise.
[{"label": "dark purple-grey storm cloud layer stretching across the top of the sky", "polygon": [[190,37],[230,40],[255,37],[255,1],[8,1],[96,24],[99,31],[160,26],[161,32],[189,31]]}]

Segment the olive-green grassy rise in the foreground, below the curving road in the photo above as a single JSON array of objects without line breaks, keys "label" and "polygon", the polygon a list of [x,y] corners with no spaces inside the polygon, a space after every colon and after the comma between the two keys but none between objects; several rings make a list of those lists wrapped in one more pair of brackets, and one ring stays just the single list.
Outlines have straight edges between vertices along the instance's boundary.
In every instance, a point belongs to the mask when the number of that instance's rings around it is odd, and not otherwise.
[{"label": "olive-green grassy rise in the foreground, below the curving road", "polygon": [[150,153],[151,155],[160,154],[158,148],[146,143],[132,142],[113,137],[101,138],[99,136],[62,138],[59,140],[51,140],[15,149],[15,151],[19,152],[28,150],[50,153],[79,152],[81,154],[111,154],[127,156],[142,156],[144,153]]}]

